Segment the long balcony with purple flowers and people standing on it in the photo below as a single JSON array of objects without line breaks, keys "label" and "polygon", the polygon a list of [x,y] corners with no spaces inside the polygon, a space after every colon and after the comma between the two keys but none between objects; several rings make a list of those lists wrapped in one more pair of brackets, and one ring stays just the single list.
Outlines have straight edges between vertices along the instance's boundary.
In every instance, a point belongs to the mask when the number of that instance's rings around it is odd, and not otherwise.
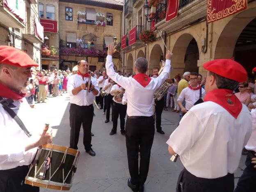
[{"label": "long balcony with purple flowers and people standing on it", "polygon": [[[67,45],[64,47],[63,45]],[[88,56],[88,57],[107,57],[107,48],[103,44],[80,44],[62,42],[59,50],[60,55]],[[113,53],[113,57],[120,57],[120,50]]]}]

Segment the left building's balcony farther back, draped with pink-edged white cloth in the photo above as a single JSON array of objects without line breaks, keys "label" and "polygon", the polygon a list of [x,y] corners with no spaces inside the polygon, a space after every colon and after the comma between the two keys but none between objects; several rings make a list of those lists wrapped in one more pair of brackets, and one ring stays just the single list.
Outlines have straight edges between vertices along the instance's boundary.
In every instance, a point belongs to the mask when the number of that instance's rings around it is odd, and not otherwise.
[{"label": "left building's balcony farther back, draped with pink-edged white cloth", "polygon": [[31,43],[43,43],[43,26],[37,18],[30,17],[30,22],[23,30],[23,38]]}]

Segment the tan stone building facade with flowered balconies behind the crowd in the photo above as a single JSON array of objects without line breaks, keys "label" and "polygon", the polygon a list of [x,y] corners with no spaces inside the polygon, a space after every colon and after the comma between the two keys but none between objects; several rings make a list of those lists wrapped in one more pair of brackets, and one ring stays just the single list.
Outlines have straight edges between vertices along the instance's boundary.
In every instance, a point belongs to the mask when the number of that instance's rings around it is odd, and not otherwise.
[{"label": "tan stone building facade with flowered balconies behind the crowd", "polygon": [[[79,60],[85,59],[91,71],[104,70],[107,45],[119,43],[121,39],[123,2],[88,0],[82,3],[59,1],[60,62],[72,69]],[[119,69],[119,50],[113,61]]]}]

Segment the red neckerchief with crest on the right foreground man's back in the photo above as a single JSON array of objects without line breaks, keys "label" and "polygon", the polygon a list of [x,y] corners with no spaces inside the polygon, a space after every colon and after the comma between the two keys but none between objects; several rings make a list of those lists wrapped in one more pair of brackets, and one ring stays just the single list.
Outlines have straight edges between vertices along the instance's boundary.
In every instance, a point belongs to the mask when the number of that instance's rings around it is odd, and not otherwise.
[{"label": "red neckerchief with crest on the right foreground man's back", "polygon": [[213,101],[227,110],[235,119],[242,110],[242,103],[229,89],[215,89],[204,96],[204,101]]}]

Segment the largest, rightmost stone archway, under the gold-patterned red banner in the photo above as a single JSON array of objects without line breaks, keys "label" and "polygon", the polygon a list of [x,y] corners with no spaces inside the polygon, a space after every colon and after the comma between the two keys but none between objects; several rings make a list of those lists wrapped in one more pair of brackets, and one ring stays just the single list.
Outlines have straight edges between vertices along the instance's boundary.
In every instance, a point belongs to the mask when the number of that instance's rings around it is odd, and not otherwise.
[{"label": "largest, rightmost stone archway, under the gold-patterned red banner", "polygon": [[256,60],[256,7],[236,15],[222,30],[215,59],[234,58],[250,74]]}]

